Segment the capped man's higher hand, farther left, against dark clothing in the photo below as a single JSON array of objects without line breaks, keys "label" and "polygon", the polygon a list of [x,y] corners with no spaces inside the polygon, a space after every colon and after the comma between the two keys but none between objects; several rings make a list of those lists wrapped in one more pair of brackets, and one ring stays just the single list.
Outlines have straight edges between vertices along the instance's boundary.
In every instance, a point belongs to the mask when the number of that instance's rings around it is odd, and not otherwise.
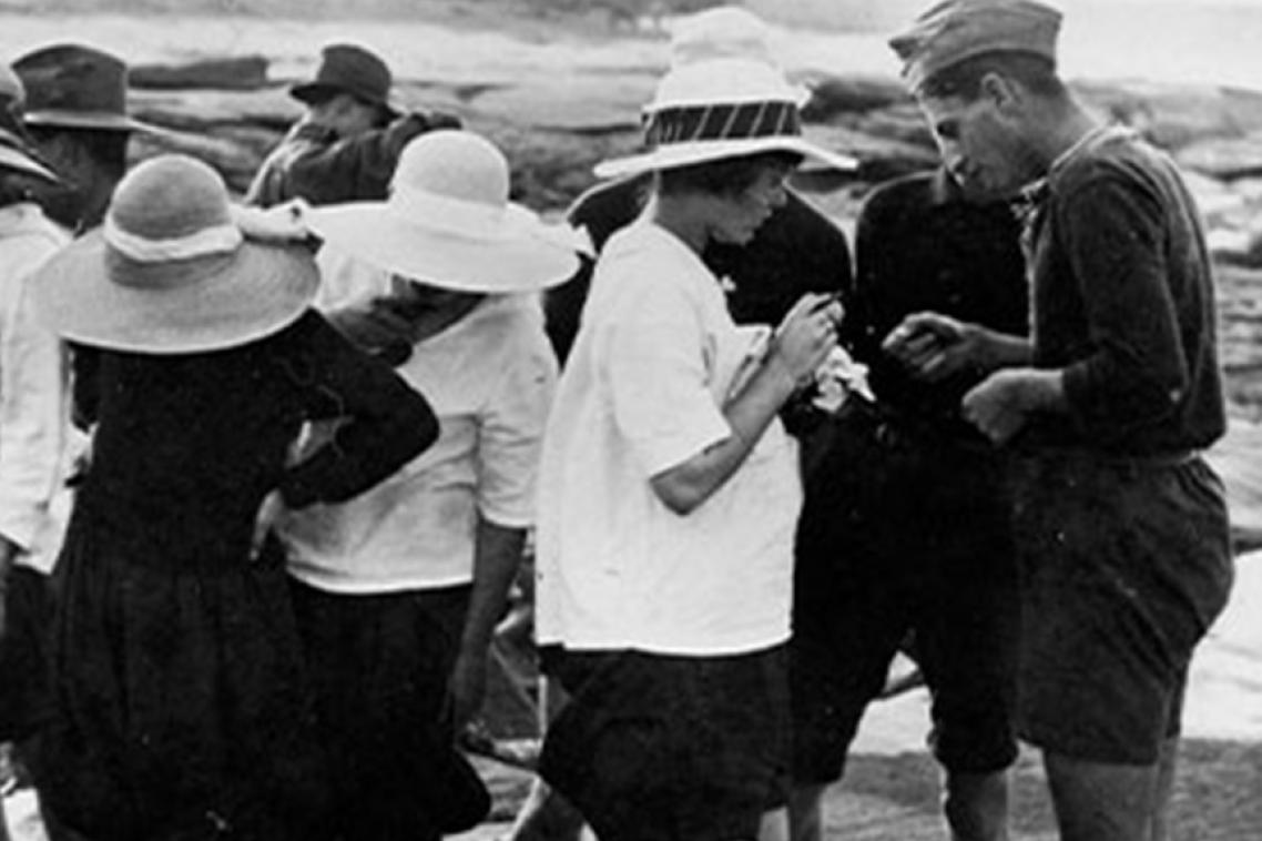
[{"label": "capped man's higher hand, farther left, against dark clothing", "polygon": [[923,380],[938,381],[965,370],[987,367],[988,333],[935,312],[907,316],[881,342],[881,350]]}]

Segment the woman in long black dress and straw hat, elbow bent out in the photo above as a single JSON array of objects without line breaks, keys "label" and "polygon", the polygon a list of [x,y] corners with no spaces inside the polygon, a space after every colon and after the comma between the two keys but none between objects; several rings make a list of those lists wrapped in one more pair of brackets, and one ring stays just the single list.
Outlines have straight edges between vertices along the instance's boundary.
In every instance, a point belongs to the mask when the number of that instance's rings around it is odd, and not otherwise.
[{"label": "woman in long black dress and straw hat, elbow bent out", "polygon": [[[37,311],[100,364],[92,463],[58,558],[54,708],[35,765],[91,838],[323,837],[333,763],[268,527],[367,490],[437,422],[310,309],[302,246],[256,241],[184,155],[119,184],[101,230],[34,275]],[[305,420],[336,444],[290,460]]]}]

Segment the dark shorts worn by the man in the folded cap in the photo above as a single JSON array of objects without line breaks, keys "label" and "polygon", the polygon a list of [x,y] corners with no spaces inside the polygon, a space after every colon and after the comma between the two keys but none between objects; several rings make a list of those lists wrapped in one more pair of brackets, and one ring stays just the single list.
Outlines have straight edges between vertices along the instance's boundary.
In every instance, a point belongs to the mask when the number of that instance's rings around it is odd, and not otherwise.
[{"label": "dark shorts worn by the man in the folded cap", "polygon": [[1013,474],[1021,734],[1075,759],[1151,764],[1179,734],[1193,649],[1230,591],[1222,481],[1200,458],[1042,457]]}]

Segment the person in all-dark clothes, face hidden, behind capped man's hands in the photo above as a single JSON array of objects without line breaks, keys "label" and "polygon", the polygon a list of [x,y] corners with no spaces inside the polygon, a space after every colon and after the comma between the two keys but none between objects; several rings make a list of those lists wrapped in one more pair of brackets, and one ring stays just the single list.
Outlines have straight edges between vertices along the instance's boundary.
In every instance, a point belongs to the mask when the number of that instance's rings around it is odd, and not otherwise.
[{"label": "person in all-dark clothes, face hidden, behind capped man's hands", "polygon": [[824,788],[909,633],[934,697],[954,837],[1006,837],[1016,563],[1001,456],[959,417],[981,373],[925,383],[881,345],[924,311],[1022,333],[1018,234],[1007,202],[965,194],[945,170],[877,188],[859,216],[843,333],[877,402],[852,397],[837,418],[798,530],[796,841],[822,837]]}]

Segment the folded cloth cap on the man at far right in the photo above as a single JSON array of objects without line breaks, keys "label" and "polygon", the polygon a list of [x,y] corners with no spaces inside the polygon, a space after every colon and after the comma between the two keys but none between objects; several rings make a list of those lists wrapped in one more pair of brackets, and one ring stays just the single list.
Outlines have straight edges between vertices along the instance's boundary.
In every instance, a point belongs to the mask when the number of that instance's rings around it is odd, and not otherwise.
[{"label": "folded cloth cap on the man at far right", "polygon": [[953,64],[991,52],[1056,61],[1061,14],[1034,0],[945,0],[890,39],[911,90]]}]

